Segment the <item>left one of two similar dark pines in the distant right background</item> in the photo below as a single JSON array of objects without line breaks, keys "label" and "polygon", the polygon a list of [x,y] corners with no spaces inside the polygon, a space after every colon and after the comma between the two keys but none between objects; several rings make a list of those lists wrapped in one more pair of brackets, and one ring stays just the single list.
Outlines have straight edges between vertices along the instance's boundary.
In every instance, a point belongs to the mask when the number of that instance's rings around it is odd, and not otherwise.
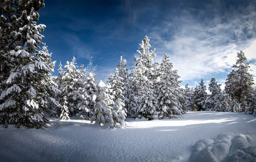
[{"label": "left one of two similar dark pines in the distant right background", "polygon": [[195,89],[195,105],[197,111],[204,111],[204,102],[207,99],[206,86],[203,79],[199,83],[199,86]]}]

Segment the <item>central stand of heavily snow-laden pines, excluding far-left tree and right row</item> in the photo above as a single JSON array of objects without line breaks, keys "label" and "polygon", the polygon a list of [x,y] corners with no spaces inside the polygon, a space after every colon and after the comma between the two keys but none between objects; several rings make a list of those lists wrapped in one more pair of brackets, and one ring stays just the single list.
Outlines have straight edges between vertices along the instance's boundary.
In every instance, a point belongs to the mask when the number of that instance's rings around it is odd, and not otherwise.
[{"label": "central stand of heavily snow-laden pines, excluding far-left tree and right row", "polygon": [[179,87],[179,75],[173,70],[173,64],[165,54],[162,62],[154,62],[155,49],[150,50],[146,36],[140,44],[139,57],[135,57],[134,66],[128,73],[126,60],[120,58],[115,74],[110,75],[108,84],[102,81],[96,84],[95,68],[90,62],[88,68],[79,68],[76,59],[59,65],[58,77],[53,77],[60,91],[52,98],[54,112],[61,119],[80,116],[110,127],[122,127],[124,119],[129,118],[177,118],[185,114],[186,97]]}]

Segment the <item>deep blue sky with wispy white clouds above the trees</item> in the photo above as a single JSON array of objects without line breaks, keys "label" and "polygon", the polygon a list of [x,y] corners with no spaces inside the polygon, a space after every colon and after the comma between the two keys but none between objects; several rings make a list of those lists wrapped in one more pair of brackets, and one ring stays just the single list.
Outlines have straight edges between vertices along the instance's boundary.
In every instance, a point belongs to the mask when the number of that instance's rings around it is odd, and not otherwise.
[{"label": "deep blue sky with wispy white clouds above the trees", "polygon": [[53,75],[73,56],[90,56],[100,79],[114,73],[120,56],[133,66],[147,35],[158,62],[170,56],[184,86],[201,78],[224,83],[239,50],[256,80],[256,0],[45,0],[38,24],[56,60]]}]

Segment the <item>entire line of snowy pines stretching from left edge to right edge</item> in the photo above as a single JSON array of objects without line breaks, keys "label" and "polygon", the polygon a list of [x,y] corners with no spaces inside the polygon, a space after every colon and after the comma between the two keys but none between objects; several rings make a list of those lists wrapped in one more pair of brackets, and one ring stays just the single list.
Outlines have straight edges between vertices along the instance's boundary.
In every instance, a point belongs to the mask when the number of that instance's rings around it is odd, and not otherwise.
[{"label": "entire line of snowy pines stretching from left edge to right edge", "polygon": [[255,90],[249,65],[241,51],[228,75],[225,91],[216,79],[205,92],[203,80],[198,87],[180,88],[177,70],[168,56],[154,62],[146,36],[134,57],[134,66],[126,67],[122,58],[109,81],[95,81],[96,69],[77,66],[73,57],[58,76],[51,76],[55,62],[40,34],[45,25],[37,25],[38,10],[44,0],[4,0],[0,2],[0,124],[6,127],[41,128],[49,122],[46,115],[68,120],[80,116],[111,128],[125,125],[125,118],[177,118],[186,111],[233,111],[255,113]]}]

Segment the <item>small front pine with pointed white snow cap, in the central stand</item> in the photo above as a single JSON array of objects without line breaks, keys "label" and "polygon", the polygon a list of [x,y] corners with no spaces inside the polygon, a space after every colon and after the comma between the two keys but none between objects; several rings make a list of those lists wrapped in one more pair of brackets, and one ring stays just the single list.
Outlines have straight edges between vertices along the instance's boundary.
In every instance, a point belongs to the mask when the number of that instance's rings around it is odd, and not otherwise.
[{"label": "small front pine with pointed white snow cap, in the central stand", "polygon": [[107,123],[110,128],[114,128],[114,120],[111,113],[112,107],[110,105],[114,105],[114,101],[111,100],[107,86],[103,81],[100,81],[97,86],[97,98],[91,122],[96,120],[96,123],[100,125]]}]

